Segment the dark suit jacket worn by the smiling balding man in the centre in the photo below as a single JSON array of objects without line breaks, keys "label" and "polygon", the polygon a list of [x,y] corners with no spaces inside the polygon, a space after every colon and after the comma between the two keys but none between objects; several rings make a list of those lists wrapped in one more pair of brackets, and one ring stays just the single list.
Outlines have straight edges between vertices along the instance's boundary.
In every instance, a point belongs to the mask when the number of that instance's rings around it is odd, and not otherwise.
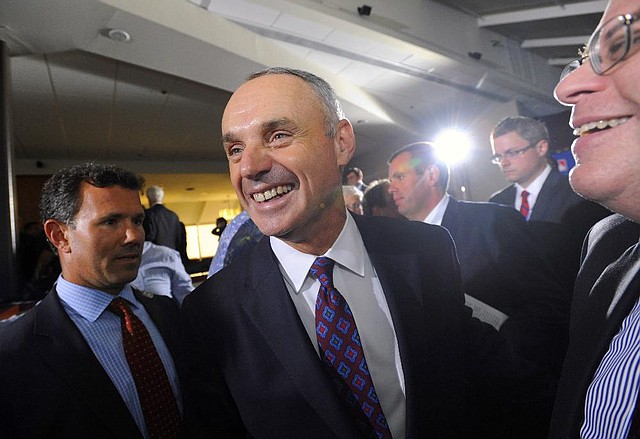
[{"label": "dark suit jacket worn by the smiling balding man in the centre", "polygon": [[[355,219],[396,330],[407,437],[464,437],[467,380],[493,395],[520,395],[523,381],[513,379],[513,371],[531,369],[528,363],[514,366],[493,328],[470,318],[443,228]],[[181,321],[188,366],[182,379],[185,423],[194,437],[359,437],[322,369],[268,239],[190,294]]]}]

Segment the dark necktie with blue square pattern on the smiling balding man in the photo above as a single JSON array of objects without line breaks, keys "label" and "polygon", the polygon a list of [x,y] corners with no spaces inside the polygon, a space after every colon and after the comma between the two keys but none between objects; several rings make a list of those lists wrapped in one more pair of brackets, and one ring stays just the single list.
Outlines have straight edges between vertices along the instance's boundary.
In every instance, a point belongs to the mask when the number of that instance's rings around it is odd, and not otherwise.
[{"label": "dark necktie with blue square pattern on the smiling balding man", "polygon": [[[347,301],[333,285],[334,261],[316,258],[310,273],[320,281],[316,298],[316,337],[322,361],[356,424],[370,437],[391,438],[364,358],[356,322]],[[373,429],[373,431],[371,430]]]}]

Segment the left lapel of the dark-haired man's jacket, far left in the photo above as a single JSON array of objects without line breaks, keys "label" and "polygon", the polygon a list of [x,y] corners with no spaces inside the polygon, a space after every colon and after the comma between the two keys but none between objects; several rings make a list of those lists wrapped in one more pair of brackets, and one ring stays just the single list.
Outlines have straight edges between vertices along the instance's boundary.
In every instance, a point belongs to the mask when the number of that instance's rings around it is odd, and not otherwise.
[{"label": "left lapel of the dark-haired man's jacket, far left", "polygon": [[76,392],[78,400],[92,409],[115,436],[139,435],[124,401],[64,311],[55,288],[35,312],[33,342],[46,366]]}]

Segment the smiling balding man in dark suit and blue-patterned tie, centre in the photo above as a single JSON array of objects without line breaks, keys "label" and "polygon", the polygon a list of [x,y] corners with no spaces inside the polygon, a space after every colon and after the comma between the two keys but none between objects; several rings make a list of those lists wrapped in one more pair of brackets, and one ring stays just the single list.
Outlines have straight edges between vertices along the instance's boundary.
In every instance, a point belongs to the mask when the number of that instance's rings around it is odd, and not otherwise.
[{"label": "smiling balding man in dark suit and blue-patterned tie, centre", "polygon": [[347,212],[354,133],[324,80],[252,75],[222,132],[266,237],[183,304],[189,434],[460,438],[468,382],[505,402],[523,394],[531,364],[470,317],[447,232]]}]

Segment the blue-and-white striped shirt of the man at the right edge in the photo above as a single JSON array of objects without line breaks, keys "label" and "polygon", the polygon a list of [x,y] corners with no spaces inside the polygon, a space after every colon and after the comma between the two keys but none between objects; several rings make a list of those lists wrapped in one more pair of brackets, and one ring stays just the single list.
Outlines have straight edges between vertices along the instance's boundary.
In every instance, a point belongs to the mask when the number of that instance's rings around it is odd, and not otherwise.
[{"label": "blue-and-white striped shirt of the man at the right edge", "polygon": [[624,439],[640,384],[640,301],[624,319],[587,390],[582,439]]}]

